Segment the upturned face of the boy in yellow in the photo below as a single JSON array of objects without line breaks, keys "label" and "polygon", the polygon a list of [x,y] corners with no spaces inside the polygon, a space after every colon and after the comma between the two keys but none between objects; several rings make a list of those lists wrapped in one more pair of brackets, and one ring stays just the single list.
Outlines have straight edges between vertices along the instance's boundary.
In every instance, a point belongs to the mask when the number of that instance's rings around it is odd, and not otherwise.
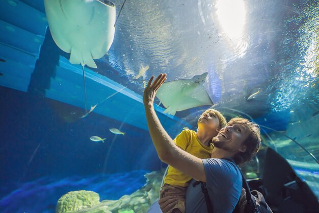
[{"label": "upturned face of the boy in yellow", "polygon": [[204,112],[197,121],[198,131],[218,132],[219,120],[218,117],[211,112]]}]

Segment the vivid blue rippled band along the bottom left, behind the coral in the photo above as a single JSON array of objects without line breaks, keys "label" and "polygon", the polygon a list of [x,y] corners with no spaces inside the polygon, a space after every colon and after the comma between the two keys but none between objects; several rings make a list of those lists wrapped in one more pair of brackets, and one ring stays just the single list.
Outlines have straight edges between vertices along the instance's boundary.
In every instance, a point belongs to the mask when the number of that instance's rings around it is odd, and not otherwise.
[{"label": "vivid blue rippled band along the bottom left, behind the coral", "polygon": [[110,175],[69,176],[63,179],[53,176],[42,177],[31,182],[19,183],[17,189],[10,193],[2,186],[0,211],[53,213],[62,195],[78,190],[96,192],[100,196],[100,201],[117,200],[141,188],[146,183],[144,174],[147,172],[139,170]]}]

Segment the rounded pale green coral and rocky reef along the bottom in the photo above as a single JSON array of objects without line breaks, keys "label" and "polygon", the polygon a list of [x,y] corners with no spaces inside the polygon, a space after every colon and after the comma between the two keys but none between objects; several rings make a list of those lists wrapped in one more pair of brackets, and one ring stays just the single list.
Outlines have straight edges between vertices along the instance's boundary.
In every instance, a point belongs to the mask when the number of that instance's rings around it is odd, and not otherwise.
[{"label": "rounded pale green coral and rocky reef along the bottom", "polygon": [[99,195],[95,192],[69,192],[59,199],[56,213],[144,213],[159,197],[163,174],[164,171],[145,174],[146,184],[119,200],[99,202]]}]

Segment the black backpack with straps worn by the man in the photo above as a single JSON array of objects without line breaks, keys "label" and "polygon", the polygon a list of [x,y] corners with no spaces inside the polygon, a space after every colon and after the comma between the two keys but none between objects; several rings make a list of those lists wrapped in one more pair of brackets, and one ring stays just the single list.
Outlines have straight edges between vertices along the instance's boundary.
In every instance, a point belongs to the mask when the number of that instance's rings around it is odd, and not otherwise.
[{"label": "black backpack with straps worn by the man", "polygon": [[[232,160],[229,160],[229,159],[225,159],[225,160],[233,162]],[[250,192],[250,187],[248,185],[248,182],[245,179],[241,170],[240,172],[243,178],[243,188],[242,188],[240,200],[238,201],[232,213],[273,213],[273,211],[270,209],[263,195],[260,192],[258,192],[257,190],[253,190]],[[201,183],[202,192],[205,195],[205,201],[206,201],[208,213],[214,213],[212,211],[212,209],[214,208],[212,206],[212,203],[210,202],[206,184],[201,181],[196,181],[193,183],[193,186],[199,183]],[[250,192],[250,193],[246,193],[246,192]]]}]

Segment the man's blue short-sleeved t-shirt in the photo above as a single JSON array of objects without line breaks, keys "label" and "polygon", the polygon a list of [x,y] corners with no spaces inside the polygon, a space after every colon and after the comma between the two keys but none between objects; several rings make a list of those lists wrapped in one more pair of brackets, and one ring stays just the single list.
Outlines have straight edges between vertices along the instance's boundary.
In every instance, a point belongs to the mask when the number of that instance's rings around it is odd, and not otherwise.
[{"label": "man's blue short-sleeved t-shirt", "polygon": [[[225,159],[202,159],[206,187],[214,213],[231,213],[235,208],[242,192],[242,175],[234,162]],[[205,213],[207,206],[202,193],[201,184],[193,187],[192,180],[187,188],[185,213]]]}]

